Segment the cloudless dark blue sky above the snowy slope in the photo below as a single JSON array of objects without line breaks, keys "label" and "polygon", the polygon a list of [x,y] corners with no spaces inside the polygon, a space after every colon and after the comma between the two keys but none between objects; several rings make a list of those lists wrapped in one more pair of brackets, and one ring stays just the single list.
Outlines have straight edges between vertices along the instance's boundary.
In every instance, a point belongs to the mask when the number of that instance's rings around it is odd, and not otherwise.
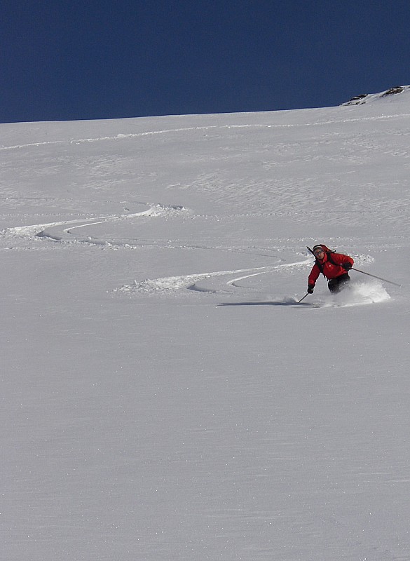
[{"label": "cloudless dark blue sky above the snowy slope", "polygon": [[410,83],[409,29],[409,0],[4,0],[0,122],[337,105]]}]

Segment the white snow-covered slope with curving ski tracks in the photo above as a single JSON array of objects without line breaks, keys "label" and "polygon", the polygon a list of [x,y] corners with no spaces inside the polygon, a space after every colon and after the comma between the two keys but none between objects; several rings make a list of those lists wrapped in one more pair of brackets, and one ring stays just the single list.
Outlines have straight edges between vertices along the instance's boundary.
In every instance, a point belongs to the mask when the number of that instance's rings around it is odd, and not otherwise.
[{"label": "white snow-covered slope with curving ski tracks", "polygon": [[[1,560],[410,559],[410,88],[0,126]],[[355,259],[345,292],[323,242]]]}]

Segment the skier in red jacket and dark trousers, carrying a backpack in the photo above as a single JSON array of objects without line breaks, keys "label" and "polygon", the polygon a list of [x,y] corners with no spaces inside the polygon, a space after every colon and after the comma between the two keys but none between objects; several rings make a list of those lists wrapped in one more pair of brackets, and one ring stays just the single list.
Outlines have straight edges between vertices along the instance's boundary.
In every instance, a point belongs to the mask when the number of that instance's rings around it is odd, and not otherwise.
[{"label": "skier in red jacket and dark trousers, carrying a backpack", "polygon": [[348,271],[353,267],[352,257],[335,253],[323,243],[314,245],[312,252],[316,261],[308,278],[308,293],[313,294],[320,273],[329,281],[327,286],[330,292],[340,292],[350,282]]}]

